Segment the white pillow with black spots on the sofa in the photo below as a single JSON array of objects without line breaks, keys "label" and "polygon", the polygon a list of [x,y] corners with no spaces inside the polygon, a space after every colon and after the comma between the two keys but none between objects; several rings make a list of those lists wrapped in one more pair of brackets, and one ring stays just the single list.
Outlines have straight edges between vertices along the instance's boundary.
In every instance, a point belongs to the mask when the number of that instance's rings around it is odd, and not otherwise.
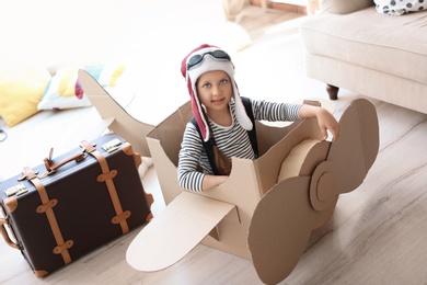
[{"label": "white pillow with black spots on the sofa", "polygon": [[424,0],[374,0],[374,2],[377,12],[385,15],[403,15],[427,9]]}]

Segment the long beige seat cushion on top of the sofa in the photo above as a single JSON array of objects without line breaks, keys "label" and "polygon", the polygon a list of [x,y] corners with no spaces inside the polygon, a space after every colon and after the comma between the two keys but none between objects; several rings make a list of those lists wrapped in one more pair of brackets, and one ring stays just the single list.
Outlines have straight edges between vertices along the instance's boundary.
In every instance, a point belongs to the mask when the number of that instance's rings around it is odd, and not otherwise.
[{"label": "long beige seat cushion on top of the sofa", "polygon": [[427,11],[384,16],[370,8],[318,14],[300,26],[307,50],[427,84]]}]

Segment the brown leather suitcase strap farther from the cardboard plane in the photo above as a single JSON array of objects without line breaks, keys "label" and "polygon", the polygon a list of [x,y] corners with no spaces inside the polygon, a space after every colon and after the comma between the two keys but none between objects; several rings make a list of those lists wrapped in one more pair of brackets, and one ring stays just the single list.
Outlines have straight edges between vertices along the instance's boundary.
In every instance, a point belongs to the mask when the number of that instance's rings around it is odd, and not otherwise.
[{"label": "brown leather suitcase strap farther from the cardboard plane", "polygon": [[59,229],[59,225],[54,213],[54,207],[58,204],[58,201],[55,198],[54,200],[49,198],[45,186],[37,178],[37,173],[35,173],[31,168],[25,167],[22,173],[24,174],[25,179],[27,179],[31,183],[33,183],[41,197],[42,204],[36,208],[36,212],[38,214],[43,214],[43,213],[46,214],[47,220],[50,225],[51,232],[54,233],[57,243],[57,247],[54,248],[53,252],[55,254],[61,254],[65,264],[70,263],[71,256],[70,253],[68,252],[68,249],[71,248],[74,242],[72,240],[65,241],[62,238],[62,233]]}]

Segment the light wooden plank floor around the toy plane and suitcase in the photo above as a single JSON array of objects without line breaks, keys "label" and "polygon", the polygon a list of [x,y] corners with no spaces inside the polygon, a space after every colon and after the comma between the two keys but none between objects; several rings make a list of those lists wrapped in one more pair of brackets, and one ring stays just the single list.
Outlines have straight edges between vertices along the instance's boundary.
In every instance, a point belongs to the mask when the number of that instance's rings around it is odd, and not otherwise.
[{"label": "light wooden plank floor around the toy plane and suitcase", "polygon": [[[235,55],[241,93],[282,101],[326,98],[323,83],[305,78],[299,21],[261,9],[240,19],[252,39]],[[343,90],[335,115],[359,95]],[[380,124],[377,161],[360,187],[341,195],[333,218],[316,232],[322,238],[281,284],[427,284],[427,115],[372,102]],[[155,215],[163,207],[155,169],[143,185],[155,196]],[[262,284],[251,261],[205,246],[162,272],[138,272],[125,253],[139,229],[43,280],[0,241],[0,284]]]}]

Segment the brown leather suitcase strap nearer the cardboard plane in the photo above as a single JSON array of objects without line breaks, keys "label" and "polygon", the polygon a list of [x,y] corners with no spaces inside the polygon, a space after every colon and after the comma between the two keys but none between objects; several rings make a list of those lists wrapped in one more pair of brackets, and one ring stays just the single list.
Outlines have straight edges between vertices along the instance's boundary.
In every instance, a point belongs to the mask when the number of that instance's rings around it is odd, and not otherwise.
[{"label": "brown leather suitcase strap nearer the cardboard plane", "polygon": [[108,189],[109,197],[112,200],[114,210],[116,212],[116,216],[112,218],[112,223],[119,224],[122,227],[123,235],[127,233],[129,231],[129,226],[126,219],[130,217],[130,210],[123,210],[120,200],[117,195],[116,186],[113,182],[113,179],[117,175],[117,170],[109,170],[105,157],[100,151],[97,151],[92,144],[88,142],[86,140],[82,140],[81,146],[86,150],[88,153],[93,156],[101,166],[102,173],[96,178],[96,181],[105,182]]}]

